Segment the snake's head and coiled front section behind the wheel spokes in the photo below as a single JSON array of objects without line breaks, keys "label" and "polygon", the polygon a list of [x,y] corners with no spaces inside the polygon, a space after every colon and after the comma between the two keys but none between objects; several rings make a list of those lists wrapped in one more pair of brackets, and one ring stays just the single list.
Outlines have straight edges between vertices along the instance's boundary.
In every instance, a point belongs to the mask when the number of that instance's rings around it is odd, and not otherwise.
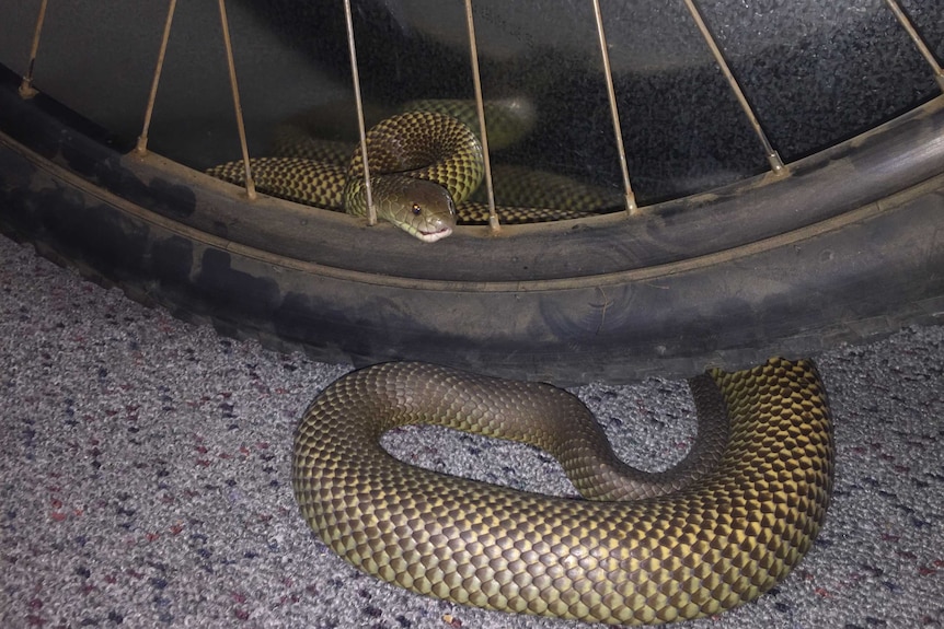
[{"label": "snake's head and coiled front section behind the wheel spokes", "polygon": [[[450,235],[457,224],[491,224],[491,209],[481,186],[485,166],[479,136],[458,114],[447,113],[459,109],[454,104],[422,101],[410,106],[421,108],[384,118],[365,136],[377,217],[424,242]],[[256,189],[356,217],[368,214],[359,145],[352,150],[343,142],[324,142],[292,125],[277,130],[274,144],[276,154],[249,161]],[[208,168],[207,174],[244,185],[245,164],[227,162]],[[506,166],[493,182],[496,186],[504,182],[504,189],[496,188],[497,196],[518,201],[496,207],[503,223],[587,218],[612,211],[619,203],[610,190],[520,166]],[[511,196],[521,188],[542,193],[525,199]]]}]

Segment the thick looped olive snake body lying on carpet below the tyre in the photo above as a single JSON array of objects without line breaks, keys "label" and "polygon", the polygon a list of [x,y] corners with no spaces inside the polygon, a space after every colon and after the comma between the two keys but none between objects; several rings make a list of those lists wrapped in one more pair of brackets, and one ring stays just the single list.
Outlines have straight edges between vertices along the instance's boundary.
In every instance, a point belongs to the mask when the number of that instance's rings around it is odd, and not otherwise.
[{"label": "thick looped olive snake body lying on carpet below the tyre", "polygon": [[[832,418],[811,360],[688,381],[698,434],[676,467],[623,464],[571,393],[428,363],[341,377],[295,433],[303,519],[338,556],[453,603],[618,625],[711,616],[782,581],[819,533]],[[419,468],[381,435],[430,423],[553,455],[582,498]]]}]

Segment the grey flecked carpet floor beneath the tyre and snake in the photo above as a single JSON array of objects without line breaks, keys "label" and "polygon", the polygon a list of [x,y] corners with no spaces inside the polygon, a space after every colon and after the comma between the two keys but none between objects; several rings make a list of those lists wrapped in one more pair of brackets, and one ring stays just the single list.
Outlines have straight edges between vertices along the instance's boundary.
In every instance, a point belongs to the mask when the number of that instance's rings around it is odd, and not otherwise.
[{"label": "grey flecked carpet floor beneath the tyre and snake", "polygon": [[[826,527],[780,586],[687,627],[944,626],[944,327],[818,363],[838,443]],[[309,532],[292,429],[345,371],[180,323],[0,237],[0,627],[578,626],[378,583]],[[665,466],[691,439],[683,382],[577,393],[631,463]],[[436,469],[573,491],[523,446],[440,430],[387,444]]]}]

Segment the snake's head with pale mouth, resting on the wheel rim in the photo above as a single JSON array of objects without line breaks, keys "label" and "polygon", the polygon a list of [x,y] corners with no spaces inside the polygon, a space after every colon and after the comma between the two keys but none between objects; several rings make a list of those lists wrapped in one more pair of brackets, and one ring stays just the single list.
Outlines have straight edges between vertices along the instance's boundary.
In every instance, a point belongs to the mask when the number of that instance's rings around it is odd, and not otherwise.
[{"label": "snake's head with pale mouth, resting on the wheel rim", "polygon": [[[381,177],[377,177],[375,182]],[[382,196],[377,199],[379,218],[390,221],[425,243],[435,243],[452,233],[456,226],[456,205],[446,188],[413,177],[395,178],[395,185],[377,186],[383,189]]]}]

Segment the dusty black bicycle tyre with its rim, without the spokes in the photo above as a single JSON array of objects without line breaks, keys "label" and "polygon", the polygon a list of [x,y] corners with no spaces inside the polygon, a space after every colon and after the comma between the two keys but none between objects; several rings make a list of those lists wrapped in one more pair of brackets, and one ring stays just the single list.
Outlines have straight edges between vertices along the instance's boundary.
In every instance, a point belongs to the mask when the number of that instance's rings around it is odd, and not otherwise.
[{"label": "dusty black bicycle tyre with its rim, without the spokes", "polygon": [[424,245],[249,200],[16,85],[4,71],[3,233],[133,299],[318,360],[625,382],[815,354],[944,314],[944,97],[787,176]]}]

